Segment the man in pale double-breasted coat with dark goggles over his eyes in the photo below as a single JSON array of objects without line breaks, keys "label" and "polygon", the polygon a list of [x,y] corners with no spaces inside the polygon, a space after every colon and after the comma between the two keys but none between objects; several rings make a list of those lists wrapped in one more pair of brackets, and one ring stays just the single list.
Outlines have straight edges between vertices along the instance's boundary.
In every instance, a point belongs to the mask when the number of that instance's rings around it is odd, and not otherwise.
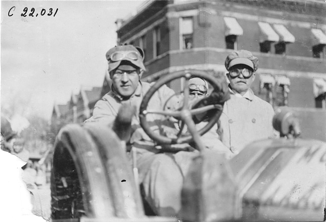
[{"label": "man in pale double-breasted coat with dark goggles over his eyes", "polygon": [[250,89],[258,65],[258,58],[246,50],[234,51],[225,60],[231,99],[224,104],[219,135],[233,155],[251,141],[274,136],[272,106]]}]

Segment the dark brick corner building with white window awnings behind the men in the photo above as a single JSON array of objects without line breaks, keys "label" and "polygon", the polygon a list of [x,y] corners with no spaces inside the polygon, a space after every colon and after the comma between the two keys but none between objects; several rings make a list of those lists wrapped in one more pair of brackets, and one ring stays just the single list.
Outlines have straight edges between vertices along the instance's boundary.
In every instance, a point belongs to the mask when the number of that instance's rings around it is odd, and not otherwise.
[{"label": "dark brick corner building with white window awnings behind the men", "polygon": [[259,97],[325,109],[325,15],[321,0],[147,1],[116,24],[118,45],[144,49],[145,81],[185,69],[223,75],[226,56],[245,49],[260,61],[252,86]]}]

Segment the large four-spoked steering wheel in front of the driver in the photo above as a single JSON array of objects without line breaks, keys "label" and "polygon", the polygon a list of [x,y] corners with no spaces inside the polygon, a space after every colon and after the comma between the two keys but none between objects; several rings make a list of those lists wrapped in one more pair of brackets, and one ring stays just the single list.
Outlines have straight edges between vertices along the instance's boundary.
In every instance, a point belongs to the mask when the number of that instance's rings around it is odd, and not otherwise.
[{"label": "large four-spoked steering wheel in front of the driver", "polygon": [[[143,130],[147,133],[147,135],[156,141],[158,144],[180,144],[180,143],[188,143],[191,141],[195,141],[198,143],[200,141],[200,136],[209,131],[214,124],[218,121],[222,114],[223,105],[215,104],[215,105],[207,105],[204,107],[190,109],[189,108],[189,79],[193,77],[199,77],[208,81],[214,88],[215,91],[220,91],[222,88],[222,83],[219,82],[215,77],[209,75],[205,71],[201,70],[184,70],[178,71],[172,74],[165,76],[164,78],[159,79],[144,95],[143,100],[140,104],[139,110],[139,119],[140,125]],[[163,85],[179,78],[184,78],[184,98],[183,98],[183,107],[181,110],[170,111],[170,110],[147,110],[147,105],[150,98],[154,95],[154,93]],[[198,114],[204,114],[205,112],[216,109],[214,115],[208,120],[208,123],[201,128],[200,130],[196,130],[195,123],[193,121],[193,116]],[[153,132],[150,128],[150,123],[146,120],[146,115],[148,114],[159,114],[168,117],[175,117],[180,119],[181,127],[179,133],[177,134],[177,138],[169,138],[165,135],[157,134]],[[184,125],[187,125],[188,131],[190,131],[191,135],[184,135],[182,133]],[[198,144],[197,144],[198,145]]]}]

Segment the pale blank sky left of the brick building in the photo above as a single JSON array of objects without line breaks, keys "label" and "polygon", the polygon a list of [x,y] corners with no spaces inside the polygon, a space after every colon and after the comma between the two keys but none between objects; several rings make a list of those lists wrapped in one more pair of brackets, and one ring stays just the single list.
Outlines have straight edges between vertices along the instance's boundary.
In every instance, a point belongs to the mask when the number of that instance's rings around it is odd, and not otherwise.
[{"label": "pale blank sky left of the brick building", "polygon": [[37,113],[50,120],[54,102],[67,103],[81,87],[102,86],[105,53],[117,40],[115,21],[144,2],[2,1],[2,109],[18,103],[13,114]]}]

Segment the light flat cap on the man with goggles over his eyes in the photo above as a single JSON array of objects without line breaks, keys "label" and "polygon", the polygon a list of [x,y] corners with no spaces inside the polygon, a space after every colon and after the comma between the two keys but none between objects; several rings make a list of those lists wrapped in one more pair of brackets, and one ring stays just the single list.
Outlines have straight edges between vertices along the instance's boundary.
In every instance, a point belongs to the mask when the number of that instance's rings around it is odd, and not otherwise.
[{"label": "light flat cap on the man with goggles over his eyes", "polygon": [[225,59],[225,68],[229,71],[234,65],[244,64],[256,72],[259,66],[258,58],[247,50],[239,50],[230,53]]}]

